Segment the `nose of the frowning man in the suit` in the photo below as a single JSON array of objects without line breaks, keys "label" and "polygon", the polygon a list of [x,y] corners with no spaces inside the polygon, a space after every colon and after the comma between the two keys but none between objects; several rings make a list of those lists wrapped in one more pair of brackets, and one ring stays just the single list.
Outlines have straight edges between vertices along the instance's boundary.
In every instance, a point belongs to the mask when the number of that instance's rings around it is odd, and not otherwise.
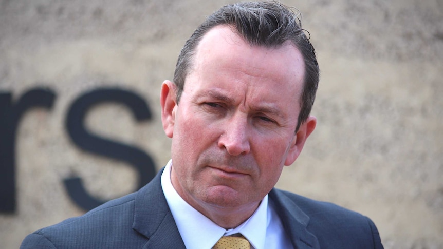
[{"label": "nose of the frowning man in the suit", "polygon": [[248,136],[248,122],[245,117],[232,117],[224,124],[218,146],[225,148],[232,156],[248,154],[251,147]]}]

